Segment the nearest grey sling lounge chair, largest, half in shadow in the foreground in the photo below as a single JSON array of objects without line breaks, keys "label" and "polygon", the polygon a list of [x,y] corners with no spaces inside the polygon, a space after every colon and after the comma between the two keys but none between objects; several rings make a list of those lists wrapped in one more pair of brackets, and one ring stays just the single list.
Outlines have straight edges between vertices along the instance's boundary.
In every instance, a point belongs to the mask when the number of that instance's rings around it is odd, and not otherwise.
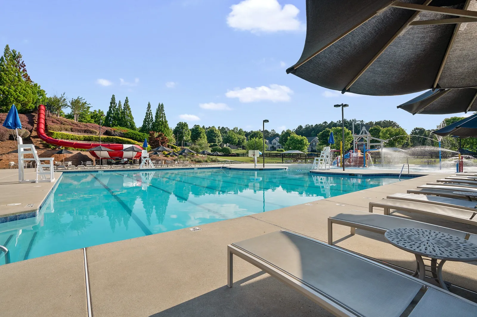
[{"label": "nearest grey sling lounge chair, largest, half in shadow in the foreground", "polygon": [[[228,245],[233,255],[310,298],[335,316],[398,317],[425,292],[409,317],[475,317],[477,304],[342,248],[288,231]],[[232,299],[231,299],[232,300]]]}]

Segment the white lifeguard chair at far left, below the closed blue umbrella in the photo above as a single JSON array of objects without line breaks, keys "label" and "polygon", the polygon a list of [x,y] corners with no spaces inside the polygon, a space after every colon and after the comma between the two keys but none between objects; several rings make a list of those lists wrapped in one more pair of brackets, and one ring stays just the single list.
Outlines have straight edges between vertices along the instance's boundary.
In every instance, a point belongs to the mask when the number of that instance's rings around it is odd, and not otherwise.
[{"label": "white lifeguard chair at far left, below the closed blue umbrella", "polygon": [[[20,183],[45,183],[55,180],[53,158],[39,158],[33,144],[23,144],[23,139],[17,136],[18,141],[18,181]],[[25,158],[25,154],[33,155],[33,158]],[[26,162],[35,161],[36,178],[25,179]],[[50,161],[49,164],[41,164],[41,161]],[[49,171],[45,171],[49,168]]]}]

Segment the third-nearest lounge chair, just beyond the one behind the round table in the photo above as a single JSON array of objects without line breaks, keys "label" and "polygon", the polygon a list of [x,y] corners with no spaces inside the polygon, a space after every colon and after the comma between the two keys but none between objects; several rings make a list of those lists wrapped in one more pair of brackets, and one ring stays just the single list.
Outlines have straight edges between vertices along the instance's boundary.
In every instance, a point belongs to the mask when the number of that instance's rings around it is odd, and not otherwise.
[{"label": "third-nearest lounge chair, just beyond the one behind the round table", "polygon": [[[405,201],[397,199],[381,199],[379,201],[369,203],[369,212],[373,212],[373,208],[384,208],[384,215],[389,215],[391,209],[415,212],[426,216],[442,218],[444,220],[463,223],[467,225],[477,226],[476,211],[470,211],[460,208],[452,208],[427,204],[416,201]],[[475,219],[474,219],[475,218]]]}]

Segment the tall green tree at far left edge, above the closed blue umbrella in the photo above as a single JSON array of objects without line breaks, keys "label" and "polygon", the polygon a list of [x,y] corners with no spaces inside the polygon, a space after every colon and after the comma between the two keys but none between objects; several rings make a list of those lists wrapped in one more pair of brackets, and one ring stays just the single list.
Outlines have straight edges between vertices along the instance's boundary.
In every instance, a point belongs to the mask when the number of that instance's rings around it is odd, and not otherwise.
[{"label": "tall green tree at far left edge, above the closed blue umbrella", "polygon": [[6,45],[0,57],[0,112],[8,112],[13,104],[20,112],[33,109],[32,102],[38,99],[35,94],[44,94],[39,89],[39,85],[33,87],[20,52]]}]

